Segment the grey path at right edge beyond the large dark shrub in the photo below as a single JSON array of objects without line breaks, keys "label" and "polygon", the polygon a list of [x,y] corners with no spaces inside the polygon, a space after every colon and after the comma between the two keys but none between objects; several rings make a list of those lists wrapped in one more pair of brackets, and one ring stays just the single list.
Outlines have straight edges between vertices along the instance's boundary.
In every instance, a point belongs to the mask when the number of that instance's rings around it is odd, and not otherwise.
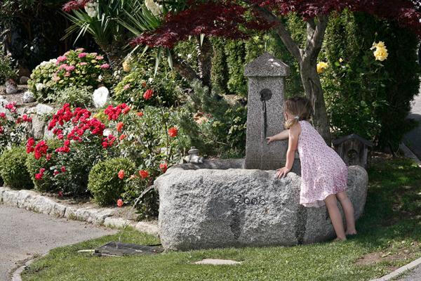
[{"label": "grey path at right edge beyond the large dark shrub", "polygon": [[412,110],[408,118],[417,120],[420,122],[420,126],[407,133],[403,138],[403,142],[421,159],[421,93],[415,97],[411,108]]}]

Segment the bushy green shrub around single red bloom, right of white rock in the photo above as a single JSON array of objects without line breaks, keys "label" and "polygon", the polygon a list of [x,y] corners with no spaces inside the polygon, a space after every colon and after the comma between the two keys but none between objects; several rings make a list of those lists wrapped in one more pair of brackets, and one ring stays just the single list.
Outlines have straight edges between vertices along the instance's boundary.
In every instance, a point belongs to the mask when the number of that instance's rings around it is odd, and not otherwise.
[{"label": "bushy green shrub around single red bloom, right of white rock", "polygon": [[[155,59],[148,55],[138,55],[128,64],[130,73],[114,89],[116,102],[127,103],[138,109],[145,105],[175,105],[181,93],[181,81],[176,72],[163,64],[154,77]],[[153,95],[145,99],[143,95],[148,89],[153,90]]]}]

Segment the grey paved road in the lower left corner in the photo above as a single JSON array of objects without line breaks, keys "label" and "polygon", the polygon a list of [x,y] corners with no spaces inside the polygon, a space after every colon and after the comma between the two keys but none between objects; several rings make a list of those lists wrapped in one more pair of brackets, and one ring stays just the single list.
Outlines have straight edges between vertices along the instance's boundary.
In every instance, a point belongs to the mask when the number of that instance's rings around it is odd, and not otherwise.
[{"label": "grey paved road in the lower left corner", "polygon": [[116,231],[0,205],[0,280],[9,280],[8,272],[34,254],[112,233]]}]

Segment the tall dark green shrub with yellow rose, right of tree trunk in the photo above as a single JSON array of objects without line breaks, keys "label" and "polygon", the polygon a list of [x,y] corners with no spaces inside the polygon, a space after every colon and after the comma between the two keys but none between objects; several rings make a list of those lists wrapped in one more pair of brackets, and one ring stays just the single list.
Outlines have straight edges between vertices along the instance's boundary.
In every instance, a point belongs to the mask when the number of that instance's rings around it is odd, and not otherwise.
[{"label": "tall dark green shrub with yellow rose, right of tree trunk", "polygon": [[[389,53],[382,62],[370,50],[378,41]],[[364,13],[329,21],[319,60],[329,65],[321,82],[336,136],[359,133],[380,148],[399,146],[420,85],[417,44],[410,31]]]}]

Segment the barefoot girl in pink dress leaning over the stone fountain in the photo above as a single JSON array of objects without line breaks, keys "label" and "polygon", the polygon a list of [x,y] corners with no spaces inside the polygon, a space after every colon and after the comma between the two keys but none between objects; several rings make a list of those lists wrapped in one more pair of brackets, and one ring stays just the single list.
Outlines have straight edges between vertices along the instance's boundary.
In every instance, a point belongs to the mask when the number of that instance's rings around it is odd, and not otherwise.
[{"label": "barefoot girl in pink dress leaning over the stone fountain", "polygon": [[[305,207],[321,207],[326,204],[337,236],[336,240],[346,240],[345,235],[356,234],[354,207],[345,191],[347,166],[307,121],[312,112],[307,98],[290,98],[284,103],[283,110],[286,130],[267,138],[267,144],[288,138],[286,164],[276,170],[276,177],[285,177],[288,174],[293,166],[295,150],[298,149],[302,176],[300,204]],[[337,199],[345,213],[346,233]]]}]

